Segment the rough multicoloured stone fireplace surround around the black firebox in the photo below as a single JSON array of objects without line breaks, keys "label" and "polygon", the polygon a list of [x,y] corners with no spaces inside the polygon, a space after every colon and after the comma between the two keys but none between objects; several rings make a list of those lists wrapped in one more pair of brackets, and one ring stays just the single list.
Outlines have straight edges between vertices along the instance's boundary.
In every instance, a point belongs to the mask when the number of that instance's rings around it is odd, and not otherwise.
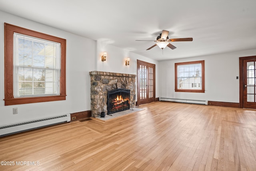
[{"label": "rough multicoloured stone fireplace surround around the black firebox", "polygon": [[112,89],[130,89],[130,104],[136,104],[136,75],[91,71],[90,76],[92,117],[100,117],[102,111],[108,113],[108,91]]}]

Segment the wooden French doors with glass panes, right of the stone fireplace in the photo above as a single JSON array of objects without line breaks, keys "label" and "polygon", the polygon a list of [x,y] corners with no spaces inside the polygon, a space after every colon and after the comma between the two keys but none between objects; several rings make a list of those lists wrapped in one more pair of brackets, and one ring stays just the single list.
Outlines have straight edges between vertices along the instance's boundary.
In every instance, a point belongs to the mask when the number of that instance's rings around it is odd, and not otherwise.
[{"label": "wooden French doors with glass panes, right of the stone fireplace", "polygon": [[151,103],[155,100],[155,68],[155,64],[137,60],[137,105]]}]

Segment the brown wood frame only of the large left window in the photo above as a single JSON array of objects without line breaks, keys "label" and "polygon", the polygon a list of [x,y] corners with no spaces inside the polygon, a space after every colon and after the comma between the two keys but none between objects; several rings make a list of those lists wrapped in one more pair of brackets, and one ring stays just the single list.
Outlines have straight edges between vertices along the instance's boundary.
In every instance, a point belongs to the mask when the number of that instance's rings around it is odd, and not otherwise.
[{"label": "brown wood frame only of the large left window", "polygon": [[[13,34],[14,32],[58,42],[61,45],[60,95],[40,97],[18,97],[13,95]],[[4,105],[38,103],[66,100],[66,39],[36,32],[26,28],[4,23]]]}]

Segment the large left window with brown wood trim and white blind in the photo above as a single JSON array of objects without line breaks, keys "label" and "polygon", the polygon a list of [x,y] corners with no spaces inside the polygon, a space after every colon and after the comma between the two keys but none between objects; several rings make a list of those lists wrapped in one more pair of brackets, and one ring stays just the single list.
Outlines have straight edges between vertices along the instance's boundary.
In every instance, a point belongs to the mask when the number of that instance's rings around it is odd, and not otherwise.
[{"label": "large left window with brown wood trim and white blind", "polygon": [[66,99],[66,40],[4,24],[5,105]]}]

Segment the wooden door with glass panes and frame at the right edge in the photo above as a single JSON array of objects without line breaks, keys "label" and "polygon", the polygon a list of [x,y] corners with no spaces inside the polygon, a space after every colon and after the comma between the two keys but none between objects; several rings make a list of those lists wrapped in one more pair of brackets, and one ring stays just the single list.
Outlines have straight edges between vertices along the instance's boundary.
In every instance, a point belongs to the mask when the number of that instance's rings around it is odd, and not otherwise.
[{"label": "wooden door with glass panes and frame at the right edge", "polygon": [[256,56],[239,58],[240,107],[256,109]]}]

